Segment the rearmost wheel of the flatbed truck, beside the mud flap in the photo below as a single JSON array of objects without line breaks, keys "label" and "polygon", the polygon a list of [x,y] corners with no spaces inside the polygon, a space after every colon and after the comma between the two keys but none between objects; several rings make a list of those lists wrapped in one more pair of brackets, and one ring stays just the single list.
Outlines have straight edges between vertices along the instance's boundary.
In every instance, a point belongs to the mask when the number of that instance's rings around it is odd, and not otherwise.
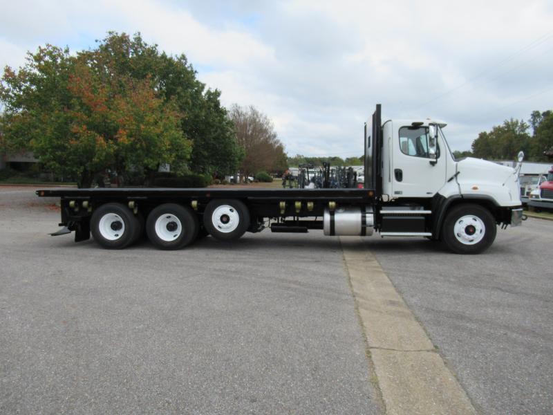
[{"label": "rearmost wheel of the flatbed truck, beside the mud flap", "polygon": [[106,203],[97,208],[91,218],[92,236],[106,249],[129,246],[139,226],[133,212],[121,203]]}]

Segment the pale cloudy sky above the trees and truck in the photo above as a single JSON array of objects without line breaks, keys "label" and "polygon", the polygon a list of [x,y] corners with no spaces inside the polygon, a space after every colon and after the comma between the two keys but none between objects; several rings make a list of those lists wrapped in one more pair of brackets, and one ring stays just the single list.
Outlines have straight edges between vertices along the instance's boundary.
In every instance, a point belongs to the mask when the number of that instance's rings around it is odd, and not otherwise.
[{"label": "pale cloudy sky above the trees and truck", "polygon": [[0,66],[46,43],[142,34],[184,53],[225,107],[254,105],[288,155],[360,156],[384,119],[447,122],[452,149],[553,109],[553,1],[6,1]]}]

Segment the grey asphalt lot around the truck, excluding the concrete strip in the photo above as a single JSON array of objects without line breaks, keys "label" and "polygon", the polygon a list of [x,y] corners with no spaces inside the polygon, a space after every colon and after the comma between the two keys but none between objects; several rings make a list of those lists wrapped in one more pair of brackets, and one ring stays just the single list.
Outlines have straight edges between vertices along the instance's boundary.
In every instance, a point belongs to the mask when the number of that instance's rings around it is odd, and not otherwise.
[{"label": "grey asphalt lot around the truck, excluding the concrete strip", "polygon": [[[246,234],[180,252],[48,237],[59,212],[0,189],[0,412],[378,414],[339,239]],[[553,221],[485,255],[367,238],[479,412],[553,411]]]}]

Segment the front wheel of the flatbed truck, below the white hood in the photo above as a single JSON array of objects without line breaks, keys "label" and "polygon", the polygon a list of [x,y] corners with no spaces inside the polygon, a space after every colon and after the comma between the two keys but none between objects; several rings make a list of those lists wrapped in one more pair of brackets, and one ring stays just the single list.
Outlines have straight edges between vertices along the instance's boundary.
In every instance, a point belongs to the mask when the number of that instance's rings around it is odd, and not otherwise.
[{"label": "front wheel of the flatbed truck, below the white hood", "polygon": [[480,205],[452,208],[442,226],[442,241],[456,254],[479,254],[496,239],[496,221]]}]

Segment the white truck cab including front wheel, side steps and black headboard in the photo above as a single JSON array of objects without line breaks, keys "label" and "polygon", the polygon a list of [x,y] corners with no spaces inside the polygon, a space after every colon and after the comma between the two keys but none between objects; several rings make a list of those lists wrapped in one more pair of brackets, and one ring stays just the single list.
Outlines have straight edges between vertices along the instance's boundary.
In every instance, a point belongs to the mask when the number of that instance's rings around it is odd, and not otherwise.
[{"label": "white truck cab including front wheel, side steps and black headboard", "polygon": [[456,160],[445,122],[380,117],[377,106],[365,125],[365,186],[377,192],[375,223],[382,236],[442,239],[451,250],[468,253],[489,246],[496,225],[521,223],[522,158],[517,169]]}]

